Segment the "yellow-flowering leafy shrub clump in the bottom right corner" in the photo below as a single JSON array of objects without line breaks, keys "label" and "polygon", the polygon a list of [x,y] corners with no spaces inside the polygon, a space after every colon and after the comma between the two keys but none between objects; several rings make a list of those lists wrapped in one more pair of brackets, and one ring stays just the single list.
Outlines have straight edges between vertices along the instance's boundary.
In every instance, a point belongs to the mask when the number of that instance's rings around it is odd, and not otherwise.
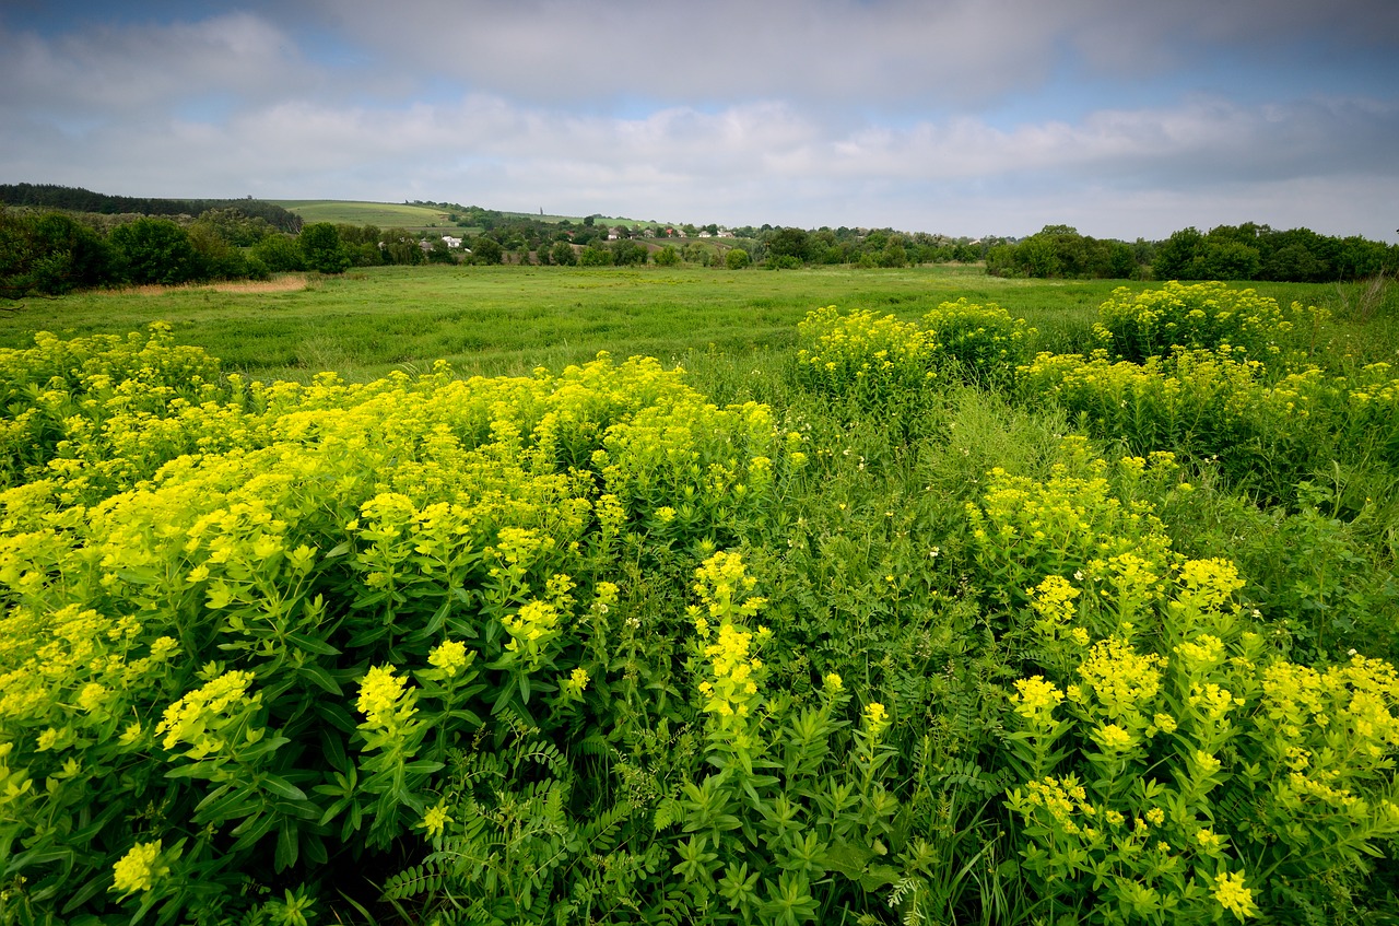
[{"label": "yellow-flowering leafy shrub clump in the bottom right corner", "polygon": [[[1335,922],[1399,834],[1393,666],[1269,657],[1241,585],[1224,561],[1185,562],[1151,601],[1161,649],[1109,636],[1017,683],[1009,807],[1052,919]],[[1073,622],[1070,592],[1038,607]]]}]

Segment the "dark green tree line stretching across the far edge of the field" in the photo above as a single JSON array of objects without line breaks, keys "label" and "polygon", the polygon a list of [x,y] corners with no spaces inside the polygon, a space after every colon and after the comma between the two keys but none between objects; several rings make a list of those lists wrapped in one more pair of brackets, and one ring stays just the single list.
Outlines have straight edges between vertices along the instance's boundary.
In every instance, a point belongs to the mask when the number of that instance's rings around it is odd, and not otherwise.
[{"label": "dark green tree line stretching across the far edge of the field", "polygon": [[[1349,281],[1399,270],[1399,246],[1307,228],[1245,222],[1209,232],[1185,228],[1161,242],[1128,243],[1046,225],[1024,238],[949,238],[893,228],[802,229],[761,225],[609,224],[505,214],[456,203],[442,210],[460,231],[414,232],[312,222],[256,200],[140,200],[78,187],[4,185],[0,201],[0,298],[59,295],[102,285],[266,278],[273,273],[343,273],[424,263],[558,266],[702,266],[783,270],[839,264],[907,267],[985,262],[1004,277]],[[187,210],[215,203],[190,218]],[[36,208],[49,211],[39,211]],[[57,210],[84,211],[57,211]],[[130,210],[159,214],[137,215]],[[474,234],[473,234],[474,232]]]}]

